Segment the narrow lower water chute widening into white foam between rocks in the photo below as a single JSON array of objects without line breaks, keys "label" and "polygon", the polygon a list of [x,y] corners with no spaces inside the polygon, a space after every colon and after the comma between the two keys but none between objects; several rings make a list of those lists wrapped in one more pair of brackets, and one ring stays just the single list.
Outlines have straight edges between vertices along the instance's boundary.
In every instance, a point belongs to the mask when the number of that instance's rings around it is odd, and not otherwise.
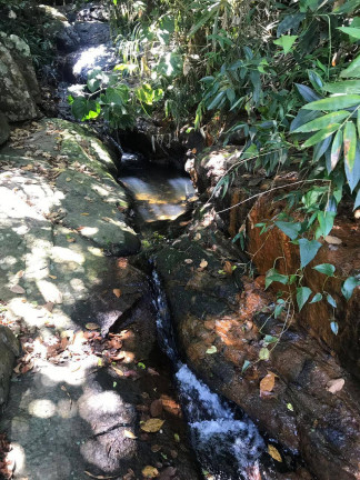
[{"label": "narrow lower water chute widening into white foam between rocks", "polygon": [[259,469],[258,459],[264,450],[264,442],[250,419],[239,419],[236,409],[211,392],[189,367],[181,362],[167,299],[156,270],[152,279],[159,342],[173,364],[191,443],[202,471],[213,480],[248,479],[249,471]]}]

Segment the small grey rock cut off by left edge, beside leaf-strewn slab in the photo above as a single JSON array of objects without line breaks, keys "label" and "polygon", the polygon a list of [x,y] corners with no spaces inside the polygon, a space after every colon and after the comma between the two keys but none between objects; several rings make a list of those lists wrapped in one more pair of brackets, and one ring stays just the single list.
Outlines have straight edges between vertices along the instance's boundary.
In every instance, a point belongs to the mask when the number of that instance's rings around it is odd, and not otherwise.
[{"label": "small grey rock cut off by left edge, beside leaf-strewn slab", "polygon": [[12,331],[0,326],[0,412],[8,400],[13,362],[19,352],[19,343]]}]

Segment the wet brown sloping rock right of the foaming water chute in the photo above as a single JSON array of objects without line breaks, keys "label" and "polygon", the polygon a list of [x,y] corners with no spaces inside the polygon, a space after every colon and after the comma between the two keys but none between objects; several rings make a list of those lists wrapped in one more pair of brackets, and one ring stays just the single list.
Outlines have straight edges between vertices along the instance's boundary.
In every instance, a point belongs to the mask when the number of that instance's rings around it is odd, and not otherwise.
[{"label": "wet brown sloping rock right of the foaming water chute", "polygon": [[[260,430],[299,453],[318,479],[354,480],[359,386],[336,356],[294,322],[283,331],[286,320],[271,317],[274,296],[263,292],[261,278],[253,282],[240,276],[241,284],[237,283],[226,261],[240,266],[232,253],[223,256],[224,246],[219,256],[214,243],[211,232],[189,230],[157,256],[183,357]],[[208,266],[199,270],[202,258]],[[280,341],[269,360],[259,361],[266,336]],[[261,393],[260,381],[269,372],[277,376],[274,387]],[[329,391],[333,379],[344,379],[336,393]]]}]

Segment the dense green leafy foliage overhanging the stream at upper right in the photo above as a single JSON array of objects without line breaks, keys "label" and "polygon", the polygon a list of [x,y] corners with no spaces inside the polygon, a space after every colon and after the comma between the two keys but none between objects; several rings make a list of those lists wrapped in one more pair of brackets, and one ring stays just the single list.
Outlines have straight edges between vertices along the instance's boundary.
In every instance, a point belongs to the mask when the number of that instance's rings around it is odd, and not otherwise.
[{"label": "dense green leafy foliage overhanging the stream at upper right", "polygon": [[[280,228],[299,244],[299,271],[273,268],[267,284],[296,283],[301,310],[313,293],[301,272],[318,240],[341,201],[360,206],[360,0],[112,0],[110,8],[122,62],[110,74],[91,73],[74,114],[128,128],[163,109],[177,129],[192,122],[224,143],[241,134],[239,169],[298,170],[301,188],[287,196],[289,209],[259,227]],[[332,266],[318,271],[334,276]],[[359,280],[343,280],[349,299]],[[312,302],[322,297],[336,308],[321,292]],[[280,299],[278,314],[286,308]],[[333,318],[331,329],[338,332]]]}]

